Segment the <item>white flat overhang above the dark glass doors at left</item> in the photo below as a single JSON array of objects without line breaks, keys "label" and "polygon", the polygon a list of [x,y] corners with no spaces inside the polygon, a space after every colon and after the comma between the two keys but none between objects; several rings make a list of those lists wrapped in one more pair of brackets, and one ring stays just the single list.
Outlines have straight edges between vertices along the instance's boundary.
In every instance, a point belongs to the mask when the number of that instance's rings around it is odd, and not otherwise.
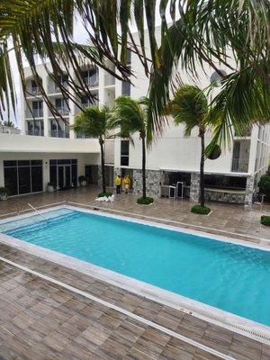
[{"label": "white flat overhang above the dark glass doors at left", "polygon": [[99,154],[97,139],[60,139],[44,136],[0,134],[1,153]]}]

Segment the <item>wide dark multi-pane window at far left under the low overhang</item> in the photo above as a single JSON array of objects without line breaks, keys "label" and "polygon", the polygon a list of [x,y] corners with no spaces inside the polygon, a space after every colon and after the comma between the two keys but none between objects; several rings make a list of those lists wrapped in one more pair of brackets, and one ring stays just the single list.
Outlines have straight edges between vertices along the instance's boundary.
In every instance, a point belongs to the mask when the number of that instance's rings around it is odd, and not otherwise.
[{"label": "wide dark multi-pane window at far left under the low overhang", "polygon": [[4,186],[12,195],[43,190],[42,160],[4,161]]}]

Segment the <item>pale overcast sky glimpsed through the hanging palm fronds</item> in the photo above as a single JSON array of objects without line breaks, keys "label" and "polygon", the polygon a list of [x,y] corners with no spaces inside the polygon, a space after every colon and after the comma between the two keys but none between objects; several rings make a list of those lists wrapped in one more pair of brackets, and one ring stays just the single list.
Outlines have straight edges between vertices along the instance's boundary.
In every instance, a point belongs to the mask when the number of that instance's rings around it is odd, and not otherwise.
[{"label": "pale overcast sky glimpsed through the hanging palm fronds", "polygon": [[[159,1],[157,1],[156,6],[156,20],[157,26],[161,23],[160,16],[159,16]],[[166,17],[169,20],[169,11],[167,9]],[[136,31],[135,25],[131,23],[131,31]],[[79,17],[75,19],[75,26],[74,26],[74,40],[79,43],[87,43],[88,42],[88,35],[85,31],[84,25]],[[20,94],[20,75],[16,64],[16,59],[14,57],[14,53],[11,53],[11,68],[14,77],[14,88],[17,96],[17,104],[16,104],[16,114],[11,112],[10,120],[14,121],[16,127],[21,128],[22,125],[22,113],[21,113],[21,94]],[[27,62],[25,61],[25,66],[27,66]],[[7,112],[5,112],[4,120],[8,120]]]}]

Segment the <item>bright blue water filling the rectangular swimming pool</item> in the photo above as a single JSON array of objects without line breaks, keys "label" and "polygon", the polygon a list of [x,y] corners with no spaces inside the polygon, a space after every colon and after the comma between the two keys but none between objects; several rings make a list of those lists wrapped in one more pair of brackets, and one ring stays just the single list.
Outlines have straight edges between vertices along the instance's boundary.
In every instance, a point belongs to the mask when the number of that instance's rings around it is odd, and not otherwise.
[{"label": "bright blue water filling the rectangular swimming pool", "polygon": [[80,211],[32,218],[0,231],[270,326],[268,251]]}]

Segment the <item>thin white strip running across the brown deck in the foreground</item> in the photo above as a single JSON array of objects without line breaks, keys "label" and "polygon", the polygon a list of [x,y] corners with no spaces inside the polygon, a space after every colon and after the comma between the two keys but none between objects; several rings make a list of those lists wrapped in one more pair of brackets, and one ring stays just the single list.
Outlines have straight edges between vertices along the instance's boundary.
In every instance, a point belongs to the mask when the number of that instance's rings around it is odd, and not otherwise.
[{"label": "thin white strip running across the brown deck in the foreground", "polygon": [[27,272],[31,275],[34,275],[34,276],[37,276],[37,277],[40,277],[41,279],[43,280],[46,280],[48,281],[49,283],[51,284],[57,284],[58,286],[61,286],[62,288],[68,290],[69,292],[72,292],[72,293],[76,293],[78,295],[81,295],[83,297],[85,297],[86,299],[90,299],[94,302],[98,302],[100,304],[102,304],[103,306],[106,306],[107,308],[110,308],[114,311],[118,311],[120,312],[121,314],[124,314],[124,315],[127,315],[128,317],[130,317],[131,319],[134,319],[134,320],[137,320],[141,323],[143,323],[144,325],[148,325],[149,327],[151,328],[154,328],[154,329],[157,329],[159,331],[162,331],[164,333],[166,333],[167,335],[169,335],[170,337],[173,337],[173,338],[177,338],[181,341],[184,341],[185,343],[189,344],[189,345],[192,345],[193,347],[198,347],[200,348],[202,351],[205,351],[206,353],[209,353],[213,356],[217,356],[219,357],[220,359],[224,359],[224,360],[235,360],[234,357],[231,357],[231,356],[227,356],[225,354],[222,354],[220,353],[220,351],[217,351],[217,350],[214,350],[212,349],[211,347],[207,347],[201,343],[198,343],[197,341],[194,341],[193,339],[191,338],[186,338],[184,337],[183,335],[181,334],[178,334],[176,333],[175,331],[171,330],[171,329],[167,329],[161,325],[158,325],[157,323],[153,322],[153,321],[150,321],[150,320],[147,320],[147,319],[144,319],[142,317],[140,317],[139,315],[136,315],[134,314],[133,312],[130,312],[130,311],[126,311],[122,308],[120,308],[119,306],[116,306],[110,302],[105,302],[103,301],[102,299],[100,298],[97,298],[96,296],[92,295],[91,293],[85,293],[79,289],[77,289],[76,287],[73,287],[73,286],[70,286],[68,284],[65,284],[65,283],[62,283],[62,282],[59,282],[58,280],[52,278],[52,277],[49,277],[48,275],[43,275],[41,273],[38,273],[36,271],[33,271],[31,270],[30,268],[28,267],[25,267],[25,266],[21,266],[17,263],[14,263],[13,261],[11,260],[8,260],[4,257],[0,257],[0,261],[3,261],[4,263],[6,264],[9,264],[11,266],[14,266],[18,269],[21,269],[23,270],[24,272]]}]

